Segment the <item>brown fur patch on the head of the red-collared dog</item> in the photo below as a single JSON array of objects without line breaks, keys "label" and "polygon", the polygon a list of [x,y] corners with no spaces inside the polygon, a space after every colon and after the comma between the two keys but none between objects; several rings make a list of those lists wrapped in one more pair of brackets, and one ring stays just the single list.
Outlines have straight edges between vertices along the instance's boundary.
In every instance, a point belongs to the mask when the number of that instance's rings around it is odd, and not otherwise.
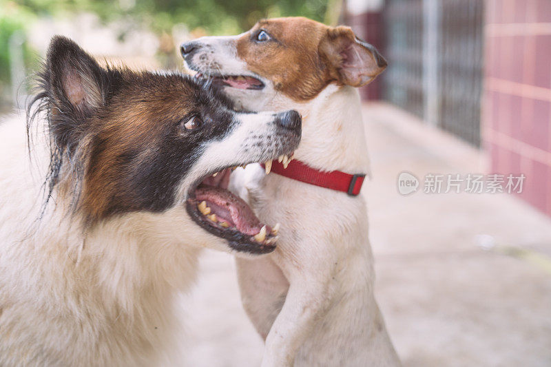
[{"label": "brown fur patch on the head of the red-collared dog", "polygon": [[[260,30],[272,39],[256,41]],[[331,82],[349,84],[339,70],[340,51],[354,39],[348,27],[332,28],[311,19],[289,17],[259,21],[236,41],[236,48],[251,72],[269,79],[276,90],[293,100],[307,101]]]}]

